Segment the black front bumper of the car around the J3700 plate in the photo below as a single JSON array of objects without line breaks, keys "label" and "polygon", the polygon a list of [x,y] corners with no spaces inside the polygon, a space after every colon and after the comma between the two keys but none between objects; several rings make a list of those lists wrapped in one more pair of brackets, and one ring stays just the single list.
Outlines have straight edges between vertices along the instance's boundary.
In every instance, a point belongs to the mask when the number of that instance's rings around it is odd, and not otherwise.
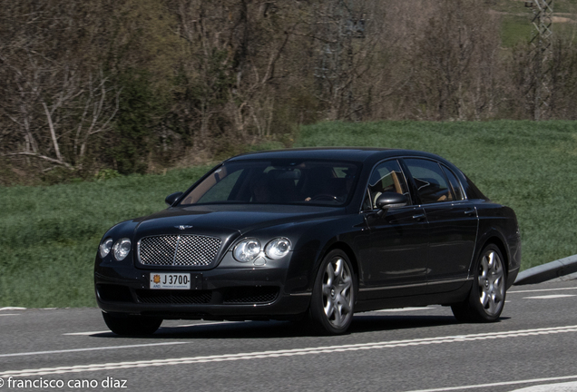
[{"label": "black front bumper of the car around the J3700 plate", "polygon": [[[295,319],[310,292],[285,292],[286,268],[215,268],[190,272],[192,289],[150,289],[154,270],[96,260],[94,287],[105,312],[161,319]],[[157,272],[166,272],[158,270]]]}]

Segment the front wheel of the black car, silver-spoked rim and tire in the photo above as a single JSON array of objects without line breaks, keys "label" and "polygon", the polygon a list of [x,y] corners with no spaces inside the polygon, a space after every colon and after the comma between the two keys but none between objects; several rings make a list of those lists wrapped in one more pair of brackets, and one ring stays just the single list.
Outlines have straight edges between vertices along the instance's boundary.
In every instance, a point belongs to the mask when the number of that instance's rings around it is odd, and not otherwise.
[{"label": "front wheel of the black car, silver-spoked rim and tire", "polygon": [[345,333],[353,321],[357,279],[347,254],[331,250],[318,269],[308,317],[323,335]]}]

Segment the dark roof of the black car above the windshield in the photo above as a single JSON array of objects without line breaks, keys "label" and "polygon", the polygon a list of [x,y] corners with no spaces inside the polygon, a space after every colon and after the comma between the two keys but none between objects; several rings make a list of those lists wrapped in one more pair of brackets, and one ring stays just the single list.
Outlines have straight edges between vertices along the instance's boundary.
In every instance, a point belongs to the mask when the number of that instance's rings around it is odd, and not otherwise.
[{"label": "dark roof of the black car above the windshield", "polygon": [[349,162],[377,162],[389,157],[421,156],[445,161],[443,158],[429,153],[403,149],[386,149],[376,147],[312,147],[286,150],[271,150],[249,152],[230,158],[227,162],[249,160],[336,160]]}]

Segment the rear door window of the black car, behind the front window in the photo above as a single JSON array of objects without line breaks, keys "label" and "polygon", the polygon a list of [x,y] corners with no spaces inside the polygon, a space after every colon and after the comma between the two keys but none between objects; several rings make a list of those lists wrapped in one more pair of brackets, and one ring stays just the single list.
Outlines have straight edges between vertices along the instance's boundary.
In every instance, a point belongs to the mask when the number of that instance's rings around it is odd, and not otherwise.
[{"label": "rear door window of the black car, behind the front window", "polygon": [[453,201],[453,193],[437,162],[423,159],[406,159],[405,162],[423,204]]}]

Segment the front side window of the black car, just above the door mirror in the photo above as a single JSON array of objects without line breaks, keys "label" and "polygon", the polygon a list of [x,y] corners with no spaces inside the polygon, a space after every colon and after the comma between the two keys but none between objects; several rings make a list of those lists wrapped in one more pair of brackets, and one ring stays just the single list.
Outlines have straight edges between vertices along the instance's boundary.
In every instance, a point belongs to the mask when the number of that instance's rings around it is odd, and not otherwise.
[{"label": "front side window of the black car, just above the door mirror", "polygon": [[405,176],[396,160],[379,163],[368,181],[363,210],[376,209],[375,202],[383,192],[392,191],[409,197],[407,190]]}]

